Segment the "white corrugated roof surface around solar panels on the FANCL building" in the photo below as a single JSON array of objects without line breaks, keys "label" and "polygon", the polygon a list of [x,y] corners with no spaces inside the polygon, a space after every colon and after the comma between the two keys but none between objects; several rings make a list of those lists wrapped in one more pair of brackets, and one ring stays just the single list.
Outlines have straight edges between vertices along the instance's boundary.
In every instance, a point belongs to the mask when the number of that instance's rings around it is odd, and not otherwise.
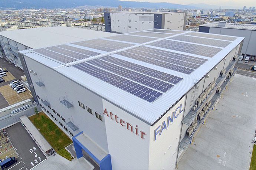
[{"label": "white corrugated roof surface around solar panels on the FANCL building", "polygon": [[[145,32],[147,33],[152,33],[152,31],[146,30]],[[161,31],[159,34],[167,34],[163,33],[163,30],[157,30],[155,29],[154,33],[157,33],[157,31]],[[171,30],[168,30],[171,31]],[[140,31],[138,31],[140,32]],[[128,35],[127,35],[128,34]],[[36,52],[33,52],[33,50],[28,50],[26,51],[26,56],[30,58],[37,59],[37,61],[42,62],[43,64],[52,67],[55,69],[57,72],[60,74],[65,75],[66,77],[72,79],[73,81],[77,82],[78,84],[81,84],[87,89],[90,89],[91,91],[97,93],[98,95],[102,96],[102,98],[105,98],[106,100],[114,103],[115,105],[127,110],[129,113],[132,115],[135,115],[137,118],[143,120],[144,122],[152,125],[155,121],[157,121],[164,113],[167,111],[169,108],[171,108],[175,102],[177,102],[184,94],[186,94],[189,89],[191,89],[194,86],[194,80],[200,80],[201,78],[204,77],[204,75],[207,74],[217,63],[221,61],[227,54],[229,54],[230,51],[232,51],[241,41],[243,41],[244,38],[242,37],[232,37],[232,36],[227,36],[227,35],[216,35],[216,34],[207,34],[207,33],[196,33],[196,32],[190,32],[190,31],[182,31],[180,34],[173,34],[170,33],[169,37],[165,38],[156,38],[156,39],[150,39],[150,41],[146,41],[147,37],[142,36],[142,35],[129,35],[127,34],[122,34],[122,35],[116,35],[116,37],[108,39],[108,38],[102,38],[103,40],[110,40],[113,43],[116,42],[126,42],[127,44],[131,44],[133,46],[131,47],[126,47],[121,50],[114,50],[111,52],[102,52],[100,55],[96,55],[95,57],[90,57],[78,61],[74,61],[70,64],[65,64],[62,62],[58,61],[53,61],[52,59],[45,58],[43,55],[39,55]],[[129,36],[127,40],[125,39],[125,36]],[[118,36],[121,37],[121,40],[118,40]],[[130,37],[132,36],[132,38]],[[154,36],[156,36],[154,34]],[[161,36],[160,36],[161,37]],[[132,43],[130,41],[138,41],[137,38],[142,38],[140,41],[146,41],[144,43]],[[143,39],[145,38],[145,39]],[[149,38],[149,37],[148,37]],[[180,40],[177,38],[181,38]],[[185,38],[185,39],[184,39]],[[223,40],[224,39],[224,40]],[[225,40],[226,39],[226,40]],[[161,41],[163,40],[163,41]],[[231,41],[232,40],[232,41]],[[129,41],[129,42],[127,42]],[[175,49],[167,49],[169,46],[166,48],[163,47],[156,47],[154,44],[151,44],[152,42],[158,42],[158,43],[163,43],[163,42],[172,42],[174,45],[170,45],[170,47],[175,47],[175,44],[181,43],[184,45],[180,50],[175,50]],[[209,45],[209,42],[210,45]],[[214,44],[215,41],[215,44]],[[184,44],[185,43],[185,44]],[[222,43],[228,43],[226,47],[219,47],[220,44]],[[96,51],[100,52],[100,50],[93,50],[93,48],[89,47],[83,47],[79,45],[74,45],[74,44],[68,44],[70,46],[76,46],[81,49],[86,49],[86,50],[91,50],[91,51]],[[109,44],[102,44],[102,47],[106,46],[108,47]],[[164,45],[164,44],[163,44]],[[192,48],[192,53],[190,53],[189,48],[191,47],[186,47],[187,46],[193,46],[194,49]],[[198,46],[200,45],[200,46]],[[116,54],[119,51],[129,51],[129,49],[134,49],[138,46],[143,46],[143,47],[151,47],[155,50],[164,50],[164,51],[169,51],[169,52],[175,52],[177,54],[183,54],[183,55],[189,55],[191,57],[198,57],[201,59],[208,59],[204,64],[202,64],[200,67],[195,69],[193,72],[190,74],[184,74],[182,72],[174,71],[172,69],[168,68],[163,68],[158,65],[153,65],[149,64],[148,62],[143,62],[143,61],[138,61],[136,59],[124,57],[122,55]],[[208,50],[214,49],[219,51],[217,54],[215,54],[213,57],[206,57],[203,55],[198,55],[196,54],[197,52],[200,52],[203,48],[208,48]],[[183,51],[185,50],[185,51]],[[213,51],[214,51],[213,50]],[[210,52],[210,51],[209,51]],[[101,58],[102,56],[110,55],[112,57],[122,59],[124,61],[132,62],[137,65],[142,65],[144,67],[152,68],[157,71],[161,71],[167,74],[171,74],[174,76],[178,76],[183,78],[178,84],[175,84],[171,89],[169,89],[167,92],[164,92],[163,95],[161,95],[159,98],[157,98],[155,101],[148,102],[144,99],[141,99],[129,92],[126,92],[114,85],[111,85],[105,81],[102,81],[101,79],[98,79],[94,76],[91,76],[83,71],[80,71],[79,69],[76,69],[72,67],[75,64],[79,64],[81,62],[85,61],[91,61],[95,58]],[[141,53],[141,55],[144,55],[144,52]],[[40,57],[41,56],[41,57]],[[39,59],[40,58],[40,59]],[[181,58],[182,59],[182,58]],[[58,64],[57,64],[58,63]],[[55,66],[55,67],[53,67]],[[135,81],[136,82],[136,81]],[[152,111],[154,110],[154,111]]]}]

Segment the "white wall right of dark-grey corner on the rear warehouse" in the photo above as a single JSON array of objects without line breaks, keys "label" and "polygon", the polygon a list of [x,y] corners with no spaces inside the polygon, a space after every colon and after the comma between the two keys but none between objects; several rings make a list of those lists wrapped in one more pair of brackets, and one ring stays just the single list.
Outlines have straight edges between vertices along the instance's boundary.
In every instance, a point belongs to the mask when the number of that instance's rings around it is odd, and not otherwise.
[{"label": "white wall right of dark-grey corner on the rear warehouse", "polygon": [[[168,13],[165,15],[164,28],[168,30],[183,30],[186,13]],[[185,18],[186,19],[186,18]]]}]

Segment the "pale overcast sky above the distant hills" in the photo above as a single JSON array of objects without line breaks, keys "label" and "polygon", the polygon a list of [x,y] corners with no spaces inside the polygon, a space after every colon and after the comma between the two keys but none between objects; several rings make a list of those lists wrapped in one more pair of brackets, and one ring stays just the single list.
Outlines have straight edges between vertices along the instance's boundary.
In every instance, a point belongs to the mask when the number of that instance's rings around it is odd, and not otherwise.
[{"label": "pale overcast sky above the distant hills", "polygon": [[[121,0],[124,1],[124,0]],[[168,2],[174,4],[187,5],[190,3],[198,4],[205,3],[210,5],[220,5],[220,6],[237,6],[243,8],[256,7],[256,0],[129,0],[129,1],[140,1],[140,2]]]}]

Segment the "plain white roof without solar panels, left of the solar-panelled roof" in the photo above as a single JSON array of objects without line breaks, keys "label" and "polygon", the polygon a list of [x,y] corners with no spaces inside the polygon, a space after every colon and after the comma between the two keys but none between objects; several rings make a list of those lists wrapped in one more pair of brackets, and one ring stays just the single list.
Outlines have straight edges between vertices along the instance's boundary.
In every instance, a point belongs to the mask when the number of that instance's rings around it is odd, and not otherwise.
[{"label": "plain white roof without solar panels, left of the solar-panelled roof", "polygon": [[102,38],[115,34],[62,26],[3,31],[0,32],[0,35],[30,48],[42,48],[92,38]]}]

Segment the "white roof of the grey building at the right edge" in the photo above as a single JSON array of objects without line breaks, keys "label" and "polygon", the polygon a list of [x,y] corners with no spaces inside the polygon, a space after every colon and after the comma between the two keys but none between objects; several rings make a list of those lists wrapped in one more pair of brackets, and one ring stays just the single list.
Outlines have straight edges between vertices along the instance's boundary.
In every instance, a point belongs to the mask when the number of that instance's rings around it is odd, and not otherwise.
[{"label": "white roof of the grey building at the right edge", "polygon": [[225,26],[219,26],[218,22],[214,22],[214,23],[203,24],[201,26],[202,27],[233,28],[233,29],[240,29],[240,30],[256,30],[256,25],[255,24],[226,23]]}]

